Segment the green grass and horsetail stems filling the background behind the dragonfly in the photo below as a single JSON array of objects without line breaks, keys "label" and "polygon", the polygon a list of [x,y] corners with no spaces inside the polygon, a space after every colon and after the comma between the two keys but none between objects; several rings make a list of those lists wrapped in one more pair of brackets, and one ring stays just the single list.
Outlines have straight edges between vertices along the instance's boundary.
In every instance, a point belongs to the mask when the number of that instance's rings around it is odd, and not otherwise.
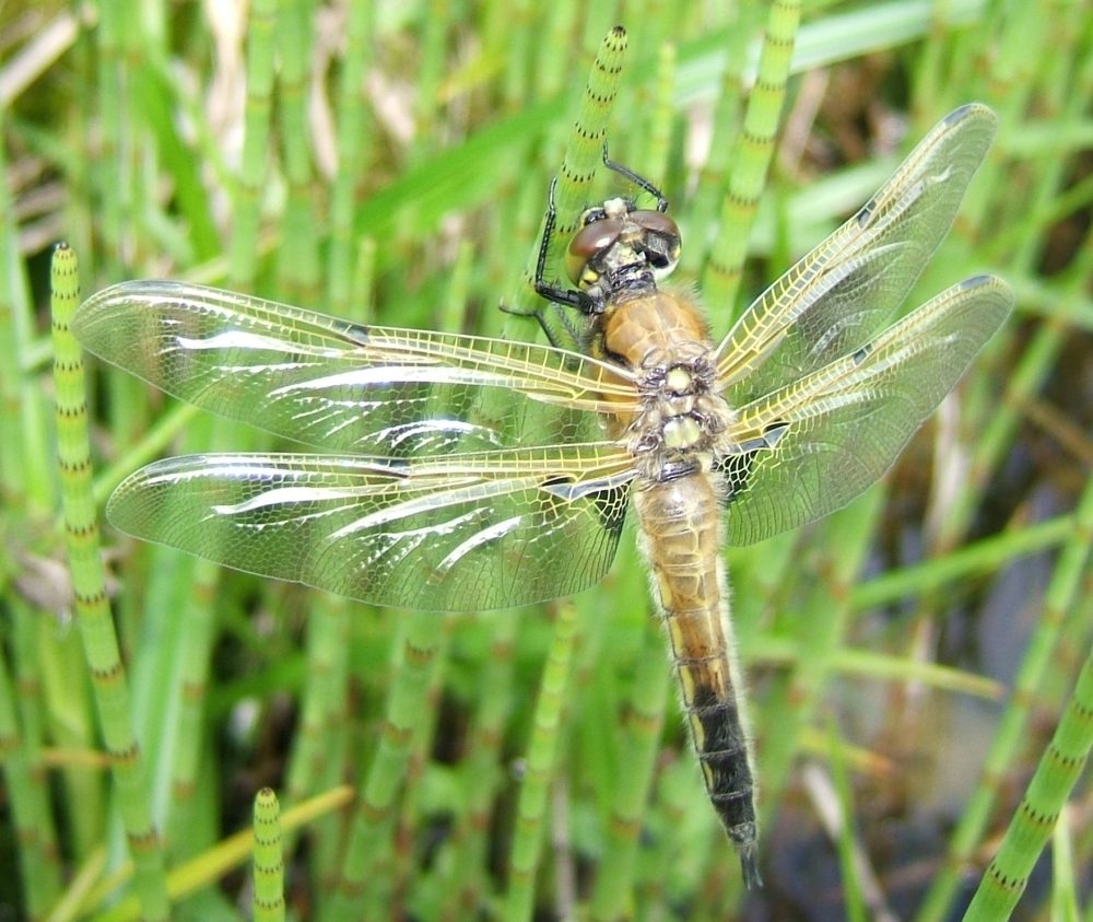
[{"label": "green grass and horsetail stems filling the background behind the dragonfly", "polygon": [[[1093,918],[1088,772],[1071,793],[1093,736],[1088,665],[1078,684],[1093,642],[1084,5],[806,3],[769,168],[748,155],[742,172],[740,126],[773,125],[778,105],[749,109],[767,4],[730,20],[716,16],[732,4],[354,3],[333,22],[304,0],[256,0],[246,45],[205,5],[221,4],[122,0],[74,23],[60,4],[0,3],[2,47],[19,52],[0,63],[0,918],[136,918],[138,903],[165,918],[163,894],[172,918],[275,918],[268,795],[261,905],[240,908],[242,833],[266,786],[298,917],[724,920],[747,903],[779,920],[881,906],[960,918],[1016,816],[974,918],[1004,918],[1043,840],[1051,861],[1019,918]],[[622,70],[586,98],[616,22]],[[116,637],[99,618],[87,643],[82,610],[73,623],[72,587],[93,594],[94,564],[78,555],[69,570],[62,486],[101,509],[151,457],[265,443],[96,367],[95,478],[73,486],[64,455],[62,485],[52,400],[70,401],[64,420],[79,399],[50,369],[54,241],[79,256],[85,292],[186,278],[531,339],[534,323],[495,308],[534,303],[550,179],[599,157],[575,140],[580,119],[665,188],[679,275],[702,280],[719,336],[973,100],[998,113],[999,137],[908,306],[989,270],[1016,313],[882,486],[727,551],[765,889],[741,891],[628,536],[608,580],[572,602],[446,618],[263,583],[107,528]],[[726,189],[764,172],[751,232],[728,238]],[[563,220],[619,189],[603,171],[588,179],[560,183]],[[743,273],[722,285],[719,254],[744,235]],[[124,672],[96,660],[104,643]],[[104,705],[104,685],[128,701]]]}]

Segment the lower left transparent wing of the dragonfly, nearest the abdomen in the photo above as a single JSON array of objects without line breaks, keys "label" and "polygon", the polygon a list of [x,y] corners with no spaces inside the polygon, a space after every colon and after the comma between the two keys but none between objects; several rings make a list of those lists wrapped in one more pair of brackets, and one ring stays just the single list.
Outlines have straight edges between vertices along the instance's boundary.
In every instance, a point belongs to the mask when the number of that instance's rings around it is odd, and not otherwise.
[{"label": "lower left transparent wing of the dragonfly, nearest the abdomen", "polygon": [[633,476],[608,443],[436,460],[190,455],[128,477],[107,516],[249,573],[375,605],[472,611],[600,580]]}]

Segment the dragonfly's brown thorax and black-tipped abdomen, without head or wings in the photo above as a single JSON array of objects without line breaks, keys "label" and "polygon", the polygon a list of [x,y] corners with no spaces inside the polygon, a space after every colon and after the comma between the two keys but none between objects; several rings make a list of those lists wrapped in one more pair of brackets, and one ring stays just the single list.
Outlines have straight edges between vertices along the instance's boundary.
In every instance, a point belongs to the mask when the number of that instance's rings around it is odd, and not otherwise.
[{"label": "dragonfly's brown thorax and black-tipped abdomen, without head or wings", "polygon": [[755,884],[753,772],[721,556],[726,488],[713,469],[731,409],[709,390],[713,347],[692,299],[655,290],[611,304],[599,319],[606,355],[643,377],[642,411],[616,418],[642,471],[640,546],[706,790]]}]

